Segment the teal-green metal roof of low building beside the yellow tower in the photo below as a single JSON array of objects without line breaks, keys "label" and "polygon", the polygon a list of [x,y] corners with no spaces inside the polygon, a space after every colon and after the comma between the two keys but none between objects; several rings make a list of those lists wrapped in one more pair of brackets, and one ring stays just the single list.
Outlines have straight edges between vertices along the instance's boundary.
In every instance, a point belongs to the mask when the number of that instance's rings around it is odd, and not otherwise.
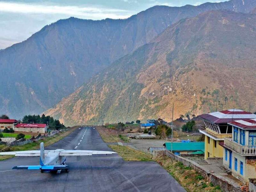
[{"label": "teal-green metal roof of low building beside the yellow tower", "polygon": [[200,151],[204,150],[204,142],[189,142],[189,143],[181,143],[181,142],[168,142],[165,143],[167,150],[173,151]]}]

